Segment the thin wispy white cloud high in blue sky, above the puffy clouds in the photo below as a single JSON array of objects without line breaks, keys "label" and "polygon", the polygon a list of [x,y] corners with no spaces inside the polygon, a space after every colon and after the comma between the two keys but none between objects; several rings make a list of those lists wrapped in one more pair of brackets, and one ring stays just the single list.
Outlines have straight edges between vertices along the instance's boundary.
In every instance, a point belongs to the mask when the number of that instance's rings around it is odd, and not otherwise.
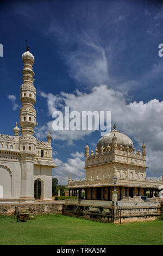
[{"label": "thin wispy white cloud high in blue sky, above the puffy clouds", "polygon": [[66,55],[66,64],[70,76],[82,84],[97,86],[110,81],[105,49],[93,41],[82,40],[76,51]]}]

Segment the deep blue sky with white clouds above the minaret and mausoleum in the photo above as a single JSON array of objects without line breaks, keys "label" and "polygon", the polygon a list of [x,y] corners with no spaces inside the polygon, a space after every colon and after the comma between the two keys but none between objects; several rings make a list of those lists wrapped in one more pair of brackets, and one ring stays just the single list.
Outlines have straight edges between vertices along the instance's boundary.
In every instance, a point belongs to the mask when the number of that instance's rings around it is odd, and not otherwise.
[{"label": "deep blue sky with white clouds above the minaret and mausoleum", "polygon": [[22,53],[33,53],[35,136],[51,130],[59,184],[85,176],[85,145],[95,151],[101,131],[54,131],[55,110],[111,111],[111,125],[135,149],[147,146],[147,176],[163,174],[163,2],[1,1],[0,132],[19,121]]}]

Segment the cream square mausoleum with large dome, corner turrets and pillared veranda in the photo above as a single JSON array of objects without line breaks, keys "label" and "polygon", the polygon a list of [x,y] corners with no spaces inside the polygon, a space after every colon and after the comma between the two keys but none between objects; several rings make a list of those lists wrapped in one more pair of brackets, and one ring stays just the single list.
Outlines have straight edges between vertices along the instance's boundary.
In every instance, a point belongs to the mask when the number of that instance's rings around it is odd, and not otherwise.
[{"label": "cream square mausoleum with large dome, corner turrets and pillared veranda", "polygon": [[117,178],[118,200],[122,197],[146,196],[159,197],[162,180],[146,179],[146,144],[141,151],[135,152],[131,139],[114,129],[97,142],[95,153],[85,147],[85,179],[68,178],[69,195],[88,200],[112,200],[114,177]]}]

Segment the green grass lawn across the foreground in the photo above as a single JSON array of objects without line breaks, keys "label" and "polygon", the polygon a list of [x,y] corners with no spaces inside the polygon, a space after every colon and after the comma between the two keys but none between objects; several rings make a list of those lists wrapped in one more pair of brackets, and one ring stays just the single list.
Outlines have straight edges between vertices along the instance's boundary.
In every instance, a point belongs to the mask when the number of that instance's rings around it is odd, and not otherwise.
[{"label": "green grass lawn across the foreground", "polygon": [[110,224],[64,215],[0,217],[0,245],[163,245],[163,221]]}]

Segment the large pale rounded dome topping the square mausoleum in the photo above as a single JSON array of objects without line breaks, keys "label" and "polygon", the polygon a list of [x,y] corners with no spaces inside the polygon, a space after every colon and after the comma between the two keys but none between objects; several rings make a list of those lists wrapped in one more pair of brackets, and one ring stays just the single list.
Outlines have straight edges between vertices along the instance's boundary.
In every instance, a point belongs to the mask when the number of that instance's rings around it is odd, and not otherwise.
[{"label": "large pale rounded dome topping the square mausoleum", "polygon": [[117,131],[115,125],[114,130],[112,130],[111,132],[104,135],[101,139],[99,139],[99,141],[97,142],[97,149],[100,151],[101,147],[103,147],[104,151],[106,151],[108,145],[110,146],[110,148],[112,148],[113,138],[116,140],[117,147],[121,146],[123,147],[123,149],[126,147],[134,149],[134,144],[131,141],[131,139],[127,135]]}]

